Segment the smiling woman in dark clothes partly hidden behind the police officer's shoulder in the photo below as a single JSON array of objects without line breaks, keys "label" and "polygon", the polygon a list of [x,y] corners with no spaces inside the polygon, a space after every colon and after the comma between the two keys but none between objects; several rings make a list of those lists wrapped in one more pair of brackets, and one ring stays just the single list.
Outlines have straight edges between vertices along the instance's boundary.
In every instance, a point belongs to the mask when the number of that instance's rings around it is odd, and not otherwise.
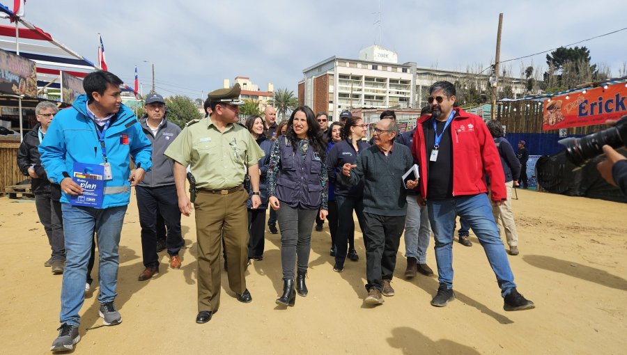
[{"label": "smiling woman in dark clothes partly hidden behind the police officer's shoulder", "polygon": [[265,242],[265,210],[268,209],[268,182],[266,181],[268,166],[270,165],[270,149],[272,141],[265,138],[263,134],[263,120],[260,116],[250,116],[246,119],[246,128],[254,136],[259,148],[263,150],[265,156],[259,159],[259,193],[261,194],[261,205],[256,210],[252,210],[252,203],[249,192],[248,207],[248,258],[256,261],[263,260],[263,247]]}]

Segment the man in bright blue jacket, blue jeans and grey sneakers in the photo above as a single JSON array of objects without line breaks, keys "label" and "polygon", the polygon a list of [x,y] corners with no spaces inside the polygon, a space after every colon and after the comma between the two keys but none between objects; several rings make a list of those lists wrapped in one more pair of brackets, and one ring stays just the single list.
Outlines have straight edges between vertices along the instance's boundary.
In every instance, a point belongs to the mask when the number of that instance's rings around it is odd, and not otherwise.
[{"label": "man in bright blue jacket, blue jeans and grey sneakers", "polygon": [[[66,262],[61,289],[61,326],[50,350],[69,351],[79,342],[79,310],[85,300],[87,262],[94,230],[100,254],[100,317],[104,325],[122,322],[116,306],[118,246],[130,187],[137,185],[152,165],[150,141],[133,112],[121,102],[122,81],[98,70],[83,80],[86,95],[71,108],[57,113],[46,139],[39,146],[41,162],[50,182],[61,185]],[[130,171],[130,159],[135,170]],[[71,196],[82,187],[72,180],[74,164],[103,166],[102,203],[96,207],[72,205]],[[71,174],[71,175],[70,175]]]}]

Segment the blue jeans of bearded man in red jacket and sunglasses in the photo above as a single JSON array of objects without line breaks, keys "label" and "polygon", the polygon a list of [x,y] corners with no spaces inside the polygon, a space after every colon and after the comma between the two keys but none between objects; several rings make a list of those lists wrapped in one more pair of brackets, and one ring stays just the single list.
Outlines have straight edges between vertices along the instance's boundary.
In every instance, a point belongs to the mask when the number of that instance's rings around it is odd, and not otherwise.
[{"label": "blue jeans of bearded man in red jacket and sunglasses", "polygon": [[453,233],[455,218],[460,216],[470,225],[483,246],[501,295],[505,297],[512,287],[516,287],[487,194],[427,200],[427,208],[435,235],[435,260],[438,262],[438,281],[441,285],[453,288]]}]

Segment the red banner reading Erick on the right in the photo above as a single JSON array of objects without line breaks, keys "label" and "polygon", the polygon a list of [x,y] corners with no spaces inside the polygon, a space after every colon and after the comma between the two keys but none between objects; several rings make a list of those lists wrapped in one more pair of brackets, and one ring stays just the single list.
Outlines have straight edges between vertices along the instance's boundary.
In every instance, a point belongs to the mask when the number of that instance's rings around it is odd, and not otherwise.
[{"label": "red banner reading Erick on the right", "polygon": [[627,114],[627,86],[611,84],[578,93],[551,97],[544,102],[542,129],[602,125]]}]

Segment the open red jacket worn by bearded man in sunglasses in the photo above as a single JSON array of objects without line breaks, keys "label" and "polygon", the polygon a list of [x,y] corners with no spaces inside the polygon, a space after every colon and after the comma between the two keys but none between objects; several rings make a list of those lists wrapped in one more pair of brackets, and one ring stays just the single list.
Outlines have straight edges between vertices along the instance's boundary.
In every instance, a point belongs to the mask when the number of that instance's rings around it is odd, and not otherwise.
[{"label": "open red jacket worn by bearded man in sunglasses", "polygon": [[[453,196],[477,195],[488,191],[485,171],[490,177],[492,199],[507,199],[505,176],[501,158],[492,135],[481,117],[459,108],[451,121],[451,141],[453,143]],[[420,170],[418,186],[421,196],[428,198],[428,155],[431,147],[424,146],[422,123],[431,116],[422,116],[416,121],[416,131],[412,142],[412,155]]]}]

